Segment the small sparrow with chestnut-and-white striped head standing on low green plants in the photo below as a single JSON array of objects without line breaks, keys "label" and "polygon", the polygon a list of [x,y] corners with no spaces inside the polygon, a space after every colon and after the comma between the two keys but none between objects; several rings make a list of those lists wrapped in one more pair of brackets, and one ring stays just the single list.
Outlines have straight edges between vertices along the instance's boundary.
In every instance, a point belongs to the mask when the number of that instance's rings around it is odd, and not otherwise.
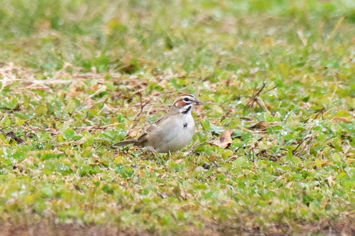
[{"label": "small sparrow with chestnut-and-white striped head standing on low green plants", "polygon": [[165,116],[144,128],[138,138],[126,139],[114,146],[133,144],[144,146],[155,152],[174,152],[186,146],[195,132],[191,110],[194,105],[203,104],[191,94],[182,94],[175,98]]}]

